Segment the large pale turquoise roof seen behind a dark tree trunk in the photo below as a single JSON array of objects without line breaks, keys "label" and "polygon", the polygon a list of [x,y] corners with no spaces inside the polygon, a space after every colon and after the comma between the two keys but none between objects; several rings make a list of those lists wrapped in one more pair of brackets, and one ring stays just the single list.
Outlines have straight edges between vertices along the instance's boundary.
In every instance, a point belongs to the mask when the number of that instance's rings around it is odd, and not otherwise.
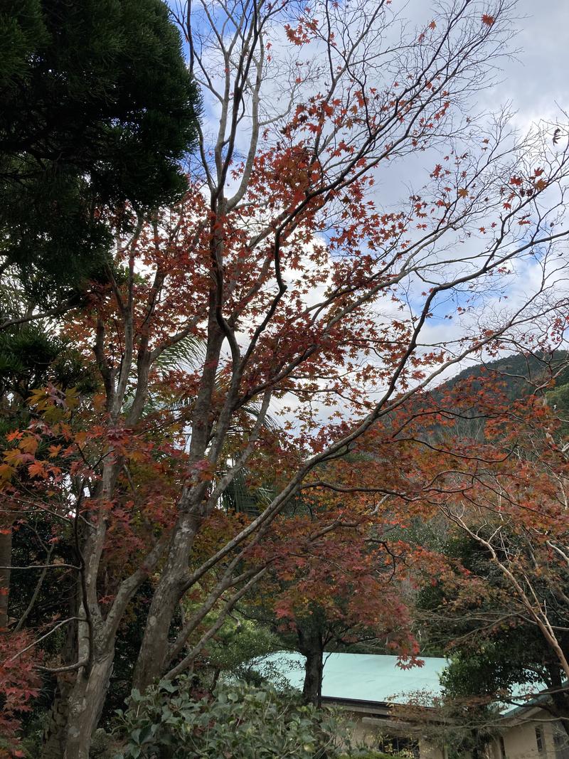
[{"label": "large pale turquoise roof seen behind a dark tree trunk", "polygon": [[[325,653],[322,697],[341,701],[368,701],[380,704],[408,704],[421,694],[429,697],[442,692],[439,676],[447,660],[423,658],[423,666],[401,669],[398,658],[378,653]],[[293,688],[302,689],[304,657],[292,651],[278,651],[264,657],[259,670],[268,679],[285,678]]]}]

